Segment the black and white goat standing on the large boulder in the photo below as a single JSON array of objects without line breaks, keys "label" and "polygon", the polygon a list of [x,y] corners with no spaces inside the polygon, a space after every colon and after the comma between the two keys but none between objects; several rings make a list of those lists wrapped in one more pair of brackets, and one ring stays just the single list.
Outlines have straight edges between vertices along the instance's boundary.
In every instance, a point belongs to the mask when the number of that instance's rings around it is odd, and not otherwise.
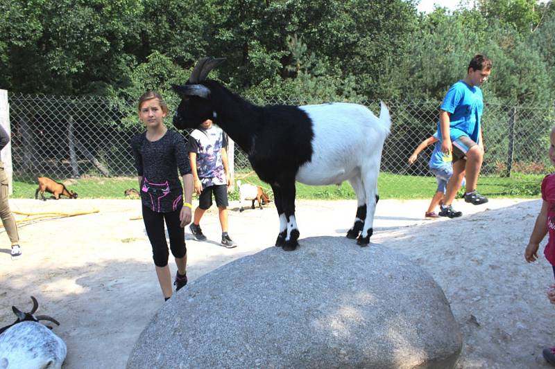
[{"label": "black and white goat standing on the large boulder", "polygon": [[173,125],[196,128],[211,119],[248,154],[258,177],[273,190],[280,215],[276,246],[287,251],[298,246],[295,181],[309,185],[349,181],[358,208],[347,237],[358,236],[357,244],[367,246],[373,233],[382,148],[391,129],[386,105],[382,102],[379,118],[363,105],[348,103],[259,107],[205,79],[223,60],[200,59],[185,85],[173,85],[182,99]]}]

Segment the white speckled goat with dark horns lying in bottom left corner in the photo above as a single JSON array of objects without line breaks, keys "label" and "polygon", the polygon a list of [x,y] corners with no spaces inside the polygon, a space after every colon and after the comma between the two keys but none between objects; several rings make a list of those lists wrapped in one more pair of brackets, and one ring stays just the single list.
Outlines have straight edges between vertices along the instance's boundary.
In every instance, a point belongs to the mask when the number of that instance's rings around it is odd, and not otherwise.
[{"label": "white speckled goat with dark horns lying in bottom left corner", "polygon": [[12,306],[17,316],[15,323],[0,329],[0,369],[59,369],[67,354],[67,347],[50,327],[39,321],[51,321],[60,325],[50,316],[37,315],[38,303],[33,300],[29,313]]}]

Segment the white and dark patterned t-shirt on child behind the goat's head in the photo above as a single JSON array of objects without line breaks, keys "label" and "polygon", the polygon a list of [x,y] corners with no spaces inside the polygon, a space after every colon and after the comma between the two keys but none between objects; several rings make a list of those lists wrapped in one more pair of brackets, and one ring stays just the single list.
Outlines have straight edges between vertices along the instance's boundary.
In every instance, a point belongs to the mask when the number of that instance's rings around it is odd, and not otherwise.
[{"label": "white and dark patterned t-shirt on child behind the goat's head", "polygon": [[228,135],[215,125],[191,132],[187,152],[196,152],[196,173],[203,188],[227,184],[221,161],[221,149],[227,146]]}]

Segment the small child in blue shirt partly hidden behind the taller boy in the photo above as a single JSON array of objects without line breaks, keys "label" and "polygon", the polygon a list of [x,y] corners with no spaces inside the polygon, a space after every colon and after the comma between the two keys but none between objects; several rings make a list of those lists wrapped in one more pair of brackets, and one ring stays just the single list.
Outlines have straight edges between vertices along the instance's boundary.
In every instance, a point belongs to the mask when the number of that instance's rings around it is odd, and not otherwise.
[{"label": "small child in blue shirt partly hidden behind the taller boy", "polygon": [[[434,152],[432,152],[432,156],[429,158],[429,170],[434,173],[436,176],[436,181],[438,182],[438,188],[434,197],[432,197],[432,201],[430,201],[428,210],[425,213],[425,217],[427,218],[438,218],[440,216],[450,216],[450,217],[460,217],[462,215],[461,212],[454,212],[454,213],[445,213],[442,211],[436,213],[437,206],[441,206],[441,201],[443,200],[443,196],[445,195],[445,191],[447,190],[447,182],[453,175],[453,166],[452,166],[452,155],[447,155],[441,152],[441,142],[438,140],[438,132],[434,133],[433,136],[429,136],[426,138],[416,150],[414,150],[411,157],[409,157],[409,165],[412,165],[416,159],[418,159],[418,154],[422,152],[426,147],[429,145],[434,145]],[[464,186],[464,172],[461,175],[461,184]]]}]

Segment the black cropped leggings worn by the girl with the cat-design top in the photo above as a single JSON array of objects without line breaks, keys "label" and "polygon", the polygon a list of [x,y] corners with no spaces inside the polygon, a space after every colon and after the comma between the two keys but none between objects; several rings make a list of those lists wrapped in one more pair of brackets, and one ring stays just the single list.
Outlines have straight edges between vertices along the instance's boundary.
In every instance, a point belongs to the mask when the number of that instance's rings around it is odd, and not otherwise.
[{"label": "black cropped leggings worn by the girl with the cat-design top", "polygon": [[183,205],[169,213],[156,213],[143,205],[144,228],[148,240],[151,240],[152,258],[157,267],[165,267],[168,264],[169,252],[164,232],[164,219],[169,234],[169,246],[174,258],[182,258],[187,253],[185,246],[185,228],[180,227],[179,214]]}]

